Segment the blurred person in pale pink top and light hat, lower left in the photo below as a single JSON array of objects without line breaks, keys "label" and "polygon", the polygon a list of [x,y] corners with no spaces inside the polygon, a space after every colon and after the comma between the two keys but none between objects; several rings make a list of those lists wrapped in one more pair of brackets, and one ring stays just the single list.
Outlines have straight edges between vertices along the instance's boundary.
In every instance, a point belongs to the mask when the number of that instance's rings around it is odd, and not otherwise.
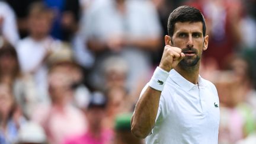
[{"label": "blurred person in pale pink top and light hat, lower left", "polygon": [[65,69],[52,66],[49,71],[49,94],[52,104],[41,105],[33,120],[46,131],[49,143],[63,143],[67,137],[87,130],[87,121],[78,108],[73,107],[72,76]]}]

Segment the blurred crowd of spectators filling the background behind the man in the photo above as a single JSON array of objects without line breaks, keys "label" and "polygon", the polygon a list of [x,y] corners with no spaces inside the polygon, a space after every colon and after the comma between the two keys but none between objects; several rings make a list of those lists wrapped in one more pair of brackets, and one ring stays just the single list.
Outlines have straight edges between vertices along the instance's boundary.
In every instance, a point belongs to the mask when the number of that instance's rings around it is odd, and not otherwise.
[{"label": "blurred crowd of spectators filling the background behind the man", "polygon": [[130,119],[179,5],[206,18],[219,144],[255,143],[255,0],[1,0],[0,144],[144,143]]}]

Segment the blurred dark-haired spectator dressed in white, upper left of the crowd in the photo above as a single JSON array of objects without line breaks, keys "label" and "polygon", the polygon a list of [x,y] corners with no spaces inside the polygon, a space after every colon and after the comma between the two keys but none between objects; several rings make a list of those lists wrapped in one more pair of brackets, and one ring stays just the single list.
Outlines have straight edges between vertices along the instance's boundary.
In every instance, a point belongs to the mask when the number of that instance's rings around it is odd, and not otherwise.
[{"label": "blurred dark-haired spectator dressed in white, upper left of the crowd", "polygon": [[63,47],[60,41],[50,35],[52,11],[42,2],[31,4],[28,14],[29,36],[17,45],[18,58],[23,73],[33,77],[36,92],[41,103],[49,104],[47,92],[47,57]]}]

